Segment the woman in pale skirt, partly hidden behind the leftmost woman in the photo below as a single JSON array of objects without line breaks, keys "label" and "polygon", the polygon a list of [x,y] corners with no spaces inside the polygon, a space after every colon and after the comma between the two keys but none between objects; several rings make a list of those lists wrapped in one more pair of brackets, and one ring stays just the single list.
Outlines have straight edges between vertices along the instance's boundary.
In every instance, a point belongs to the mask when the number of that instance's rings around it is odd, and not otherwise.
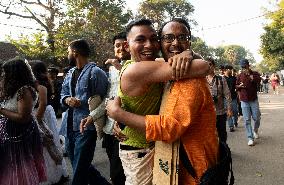
[{"label": "woman in pale skirt, partly hidden behind the leftmost woman", "polygon": [[57,119],[53,107],[48,100],[50,99],[51,85],[47,78],[47,67],[39,60],[30,61],[32,71],[37,80],[36,89],[39,92],[39,101],[36,106],[35,116],[39,127],[43,130],[44,141],[43,155],[46,165],[47,181],[41,185],[58,183],[63,176],[67,176],[66,163],[60,151],[59,135],[57,132]]}]

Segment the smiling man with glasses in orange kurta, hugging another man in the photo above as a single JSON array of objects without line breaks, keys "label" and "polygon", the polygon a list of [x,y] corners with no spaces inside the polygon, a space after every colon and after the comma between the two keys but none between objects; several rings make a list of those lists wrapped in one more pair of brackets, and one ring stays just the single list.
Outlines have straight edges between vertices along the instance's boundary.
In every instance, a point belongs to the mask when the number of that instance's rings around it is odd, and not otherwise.
[{"label": "smiling man with glasses in orange kurta, hugging another man", "polygon": [[[189,38],[190,27],[186,21],[173,19],[167,22],[160,31],[164,58],[189,49]],[[147,141],[172,143],[180,139],[197,180],[217,163],[216,112],[205,78],[168,82],[160,115],[140,116],[126,112],[120,108],[119,98],[108,102],[107,114],[118,122],[145,132]],[[178,184],[197,184],[181,162],[178,176]]]}]

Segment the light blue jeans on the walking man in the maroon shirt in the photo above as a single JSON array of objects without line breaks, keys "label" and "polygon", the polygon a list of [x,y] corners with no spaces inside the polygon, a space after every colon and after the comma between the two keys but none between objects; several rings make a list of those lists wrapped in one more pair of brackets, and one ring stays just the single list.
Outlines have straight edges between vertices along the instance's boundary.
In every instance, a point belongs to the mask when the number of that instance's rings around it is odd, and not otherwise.
[{"label": "light blue jeans on the walking man in the maroon shirt", "polygon": [[258,99],[254,101],[241,101],[244,123],[248,139],[254,139],[253,130],[251,126],[251,117],[254,120],[254,131],[258,132],[260,125],[260,110]]}]

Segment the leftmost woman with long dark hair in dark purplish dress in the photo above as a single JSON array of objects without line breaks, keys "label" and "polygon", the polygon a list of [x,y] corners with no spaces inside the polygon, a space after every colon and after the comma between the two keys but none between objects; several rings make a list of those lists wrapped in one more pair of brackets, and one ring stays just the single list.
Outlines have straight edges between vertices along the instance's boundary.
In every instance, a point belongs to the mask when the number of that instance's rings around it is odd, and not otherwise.
[{"label": "leftmost woman with long dark hair in dark purplish dress", "polygon": [[46,180],[42,142],[33,117],[35,79],[21,59],[1,67],[0,184],[38,185]]}]

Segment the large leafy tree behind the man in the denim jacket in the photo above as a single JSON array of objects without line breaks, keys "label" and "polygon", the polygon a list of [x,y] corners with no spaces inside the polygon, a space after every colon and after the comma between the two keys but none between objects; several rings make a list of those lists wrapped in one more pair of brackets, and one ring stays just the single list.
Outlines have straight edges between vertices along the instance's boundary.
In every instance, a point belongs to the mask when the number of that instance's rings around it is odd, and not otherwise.
[{"label": "large leafy tree behind the man in the denim jacket", "polygon": [[[24,0],[18,1],[17,3],[7,4],[6,7],[15,7],[20,3],[26,3],[31,5],[30,9],[32,9],[35,8],[35,5],[42,4],[40,0],[33,3]],[[18,40],[8,39],[24,53],[24,57],[48,62],[53,62],[52,59],[56,58],[57,62],[54,64],[57,66],[67,65],[68,44],[75,39],[83,38],[90,43],[92,48],[91,59],[97,61],[98,65],[103,67],[104,61],[113,56],[111,38],[114,34],[124,30],[125,24],[132,16],[129,10],[125,10],[125,1],[123,0],[67,0],[66,4],[59,0],[49,0],[47,3],[53,3],[53,8],[65,6],[64,12],[63,9],[60,12],[65,16],[58,20],[57,25],[55,23],[49,24],[52,20],[55,20],[57,14],[53,16],[54,19],[48,19],[48,16],[42,13],[43,10],[36,10],[39,13],[34,13],[34,15],[41,15],[39,17],[46,17],[47,19],[47,34],[38,32],[31,36],[21,36]],[[23,13],[25,13],[24,10]],[[14,15],[14,13],[11,14]],[[29,18],[32,19],[32,16],[29,16]],[[45,23],[43,20],[41,22]]]}]

